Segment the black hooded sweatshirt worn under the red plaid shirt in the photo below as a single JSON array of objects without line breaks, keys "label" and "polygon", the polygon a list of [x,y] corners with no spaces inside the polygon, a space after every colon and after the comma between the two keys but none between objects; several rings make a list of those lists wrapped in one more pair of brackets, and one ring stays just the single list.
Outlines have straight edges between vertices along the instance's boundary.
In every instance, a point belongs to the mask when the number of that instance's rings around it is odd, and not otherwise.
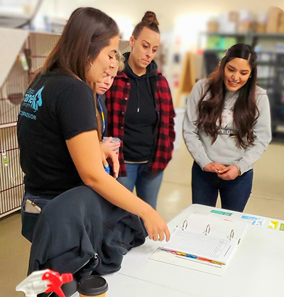
[{"label": "black hooded sweatshirt worn under the red plaid shirt", "polygon": [[157,65],[152,61],[146,74],[138,76],[129,66],[129,55],[124,54],[124,72],[131,81],[124,127],[124,159],[126,162],[143,162],[151,159],[155,145]]}]

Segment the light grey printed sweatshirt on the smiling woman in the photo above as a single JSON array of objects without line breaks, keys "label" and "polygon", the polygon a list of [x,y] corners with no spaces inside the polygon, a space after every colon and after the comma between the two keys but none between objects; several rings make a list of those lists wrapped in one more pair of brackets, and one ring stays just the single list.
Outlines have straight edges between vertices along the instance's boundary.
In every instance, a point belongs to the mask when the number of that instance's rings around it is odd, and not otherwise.
[{"label": "light grey printed sweatshirt on the smiling woman", "polygon": [[224,110],[222,113],[222,129],[219,131],[217,140],[212,144],[212,136],[204,131],[199,131],[195,125],[197,120],[197,104],[204,95],[207,80],[198,81],[187,99],[185,118],[183,121],[183,138],[192,158],[203,169],[211,162],[222,163],[226,166],[236,164],[241,173],[253,168],[263,151],[266,150],[271,141],[271,115],[266,90],[256,88],[256,101],[259,117],[253,127],[255,146],[239,148],[236,139],[229,136],[234,134],[233,108],[239,92],[226,92]]}]

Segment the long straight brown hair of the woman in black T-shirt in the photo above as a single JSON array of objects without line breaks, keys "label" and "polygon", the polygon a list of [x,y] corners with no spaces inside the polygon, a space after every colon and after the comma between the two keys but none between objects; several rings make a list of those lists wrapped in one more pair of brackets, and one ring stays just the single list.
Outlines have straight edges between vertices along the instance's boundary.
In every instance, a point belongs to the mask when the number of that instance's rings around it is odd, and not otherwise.
[{"label": "long straight brown hair of the woman in black T-shirt", "polygon": [[[58,43],[45,60],[43,68],[35,75],[56,71],[71,75],[86,82],[85,71],[103,48],[110,43],[110,39],[119,35],[116,22],[106,13],[90,7],[79,8],[73,11]],[[92,87],[96,98],[96,86]],[[102,122],[94,104],[97,114],[99,140],[102,140]]]}]

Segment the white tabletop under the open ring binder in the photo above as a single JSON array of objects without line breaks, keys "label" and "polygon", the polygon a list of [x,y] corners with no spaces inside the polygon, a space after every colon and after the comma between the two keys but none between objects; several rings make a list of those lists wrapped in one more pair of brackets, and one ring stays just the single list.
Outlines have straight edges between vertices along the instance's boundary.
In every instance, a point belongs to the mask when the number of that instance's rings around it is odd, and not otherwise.
[{"label": "white tabletop under the open ring binder", "polygon": [[[221,209],[190,205],[168,222],[170,232],[191,213],[211,210]],[[232,220],[248,215],[229,212]],[[279,226],[268,228],[274,219],[262,218],[263,226],[249,226],[222,276],[149,259],[161,242],[146,239],[145,244],[126,254],[120,271],[104,276],[109,284],[107,297],[283,297],[284,232]],[[283,222],[276,221],[279,225]]]}]

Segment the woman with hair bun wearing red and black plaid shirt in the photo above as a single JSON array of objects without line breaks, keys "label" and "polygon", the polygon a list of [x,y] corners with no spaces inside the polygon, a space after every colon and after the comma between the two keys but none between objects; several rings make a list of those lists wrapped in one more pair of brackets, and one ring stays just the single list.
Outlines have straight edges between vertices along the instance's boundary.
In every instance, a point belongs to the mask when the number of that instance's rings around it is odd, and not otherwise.
[{"label": "woman with hair bun wearing red and black plaid shirt", "polygon": [[119,182],[156,207],[163,171],[175,140],[170,87],[153,61],[160,44],[155,13],[134,28],[125,69],[107,92],[109,134],[121,139]]}]

